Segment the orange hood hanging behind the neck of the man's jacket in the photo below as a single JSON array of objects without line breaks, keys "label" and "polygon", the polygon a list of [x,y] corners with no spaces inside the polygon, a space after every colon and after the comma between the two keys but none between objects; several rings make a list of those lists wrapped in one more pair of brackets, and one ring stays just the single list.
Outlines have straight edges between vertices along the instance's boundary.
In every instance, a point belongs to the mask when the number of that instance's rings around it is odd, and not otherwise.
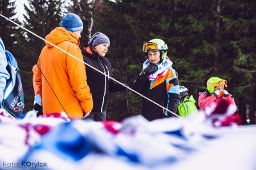
[{"label": "orange hood hanging behind the neck of the man's jacket", "polygon": [[[53,43],[54,45],[65,41],[72,42],[76,45],[80,44],[79,38],[71,31],[67,31],[65,27],[56,27],[51,31],[51,33],[49,33],[49,35],[45,36],[45,40]],[[47,45],[47,47],[53,46],[46,41],[45,44]]]}]

